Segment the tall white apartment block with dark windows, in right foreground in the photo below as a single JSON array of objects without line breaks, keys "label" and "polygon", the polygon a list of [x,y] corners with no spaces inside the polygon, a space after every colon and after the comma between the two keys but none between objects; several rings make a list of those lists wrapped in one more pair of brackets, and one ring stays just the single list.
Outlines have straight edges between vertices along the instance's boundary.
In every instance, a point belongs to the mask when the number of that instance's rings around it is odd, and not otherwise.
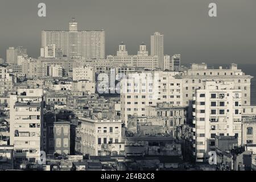
[{"label": "tall white apartment block with dark windows, in right foreground", "polygon": [[193,102],[196,161],[204,162],[214,150],[216,136],[236,136],[242,142],[242,91],[234,82],[207,81]]}]

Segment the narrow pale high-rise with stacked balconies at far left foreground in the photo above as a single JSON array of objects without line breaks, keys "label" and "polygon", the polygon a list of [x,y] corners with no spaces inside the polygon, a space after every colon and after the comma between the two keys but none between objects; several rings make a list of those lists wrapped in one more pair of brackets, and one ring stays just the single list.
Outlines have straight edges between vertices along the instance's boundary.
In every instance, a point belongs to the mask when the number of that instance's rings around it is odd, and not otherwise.
[{"label": "narrow pale high-rise with stacked balconies at far left foreground", "polygon": [[18,89],[10,96],[10,144],[16,162],[36,162],[43,147],[43,89]]}]

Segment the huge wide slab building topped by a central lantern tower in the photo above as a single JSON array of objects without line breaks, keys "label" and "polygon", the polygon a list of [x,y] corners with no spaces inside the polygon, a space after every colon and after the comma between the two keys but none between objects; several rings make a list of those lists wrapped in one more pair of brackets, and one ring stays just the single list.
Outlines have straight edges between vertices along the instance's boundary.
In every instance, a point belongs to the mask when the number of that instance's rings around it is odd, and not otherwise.
[{"label": "huge wide slab building topped by a central lantern tower", "polygon": [[75,18],[69,22],[69,31],[42,31],[42,48],[53,44],[63,56],[105,58],[105,31],[78,31]]}]

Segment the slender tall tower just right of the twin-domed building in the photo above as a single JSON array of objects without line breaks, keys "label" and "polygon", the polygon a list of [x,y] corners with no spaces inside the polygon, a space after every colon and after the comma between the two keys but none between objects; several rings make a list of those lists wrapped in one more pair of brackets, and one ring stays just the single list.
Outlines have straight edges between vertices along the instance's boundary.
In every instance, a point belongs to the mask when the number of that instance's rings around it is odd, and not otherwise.
[{"label": "slender tall tower just right of the twin-domed building", "polygon": [[164,35],[159,32],[151,35],[151,56],[158,56],[159,68],[164,69]]}]

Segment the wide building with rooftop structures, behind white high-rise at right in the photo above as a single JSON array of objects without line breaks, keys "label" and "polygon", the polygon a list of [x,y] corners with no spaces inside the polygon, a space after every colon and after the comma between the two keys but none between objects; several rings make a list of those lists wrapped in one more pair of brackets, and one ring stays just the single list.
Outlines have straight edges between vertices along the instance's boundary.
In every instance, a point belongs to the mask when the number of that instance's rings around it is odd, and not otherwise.
[{"label": "wide building with rooftop structures, behind white high-rise at right", "polygon": [[[241,69],[237,68],[237,64],[230,64],[229,68],[219,69],[208,68],[207,64],[191,64],[191,68],[175,76],[183,80],[183,105],[188,107],[188,114],[192,113],[192,100],[195,96],[196,89],[202,89],[205,81],[233,81],[234,89],[242,91],[241,105],[250,105],[250,75],[245,75]],[[192,120],[192,115],[188,115],[189,120]]]}]

